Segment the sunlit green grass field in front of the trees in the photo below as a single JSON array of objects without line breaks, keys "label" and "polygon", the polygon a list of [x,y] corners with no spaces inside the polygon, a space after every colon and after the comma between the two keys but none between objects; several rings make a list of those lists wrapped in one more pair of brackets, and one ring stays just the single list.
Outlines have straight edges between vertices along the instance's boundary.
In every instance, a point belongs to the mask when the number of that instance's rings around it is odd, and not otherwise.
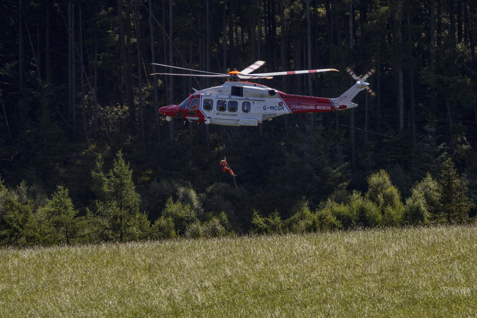
[{"label": "sunlit green grass field in front of the trees", "polygon": [[477,227],[0,250],[0,317],[476,317]]}]

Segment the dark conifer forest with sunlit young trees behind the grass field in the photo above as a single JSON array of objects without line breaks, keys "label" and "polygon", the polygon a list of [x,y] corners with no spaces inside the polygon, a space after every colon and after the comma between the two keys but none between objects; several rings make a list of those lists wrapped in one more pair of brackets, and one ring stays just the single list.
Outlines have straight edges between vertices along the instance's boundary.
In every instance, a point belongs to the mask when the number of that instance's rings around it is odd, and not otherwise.
[{"label": "dark conifer forest with sunlit young trees behind the grass field", "polygon": [[[474,0],[5,0],[0,244],[303,233],[473,222]],[[158,109],[226,73],[357,108],[258,127]],[[333,74],[331,74],[333,73]],[[227,157],[236,183],[219,168]]]}]

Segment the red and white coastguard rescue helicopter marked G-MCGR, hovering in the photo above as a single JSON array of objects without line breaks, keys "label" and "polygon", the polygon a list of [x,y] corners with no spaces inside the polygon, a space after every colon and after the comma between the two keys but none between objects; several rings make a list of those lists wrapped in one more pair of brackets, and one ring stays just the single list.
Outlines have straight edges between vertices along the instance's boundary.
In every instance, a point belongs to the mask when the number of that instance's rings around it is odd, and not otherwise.
[{"label": "red and white coastguard rescue helicopter marked G-MCGR, hovering", "polygon": [[163,67],[200,72],[205,74],[170,74],[154,73],[151,75],[177,75],[194,77],[221,77],[227,79],[220,86],[195,90],[178,105],[168,105],[159,108],[159,114],[165,115],[166,120],[179,116],[189,121],[205,124],[228,126],[257,126],[264,120],[285,114],[322,113],[349,109],[358,106],[351,100],[361,90],[366,89],[372,95],[375,92],[369,88],[365,80],[375,73],[371,70],[363,77],[357,77],[351,69],[347,72],[356,80],[356,83],[337,98],[324,98],[287,94],[265,85],[242,81],[242,79],[271,79],[278,75],[307,74],[335,69],[305,70],[251,74],[262,66],[264,61],[256,61],[241,72],[232,71],[229,74],[219,74],[179,68],[164,64],[155,64]]}]

